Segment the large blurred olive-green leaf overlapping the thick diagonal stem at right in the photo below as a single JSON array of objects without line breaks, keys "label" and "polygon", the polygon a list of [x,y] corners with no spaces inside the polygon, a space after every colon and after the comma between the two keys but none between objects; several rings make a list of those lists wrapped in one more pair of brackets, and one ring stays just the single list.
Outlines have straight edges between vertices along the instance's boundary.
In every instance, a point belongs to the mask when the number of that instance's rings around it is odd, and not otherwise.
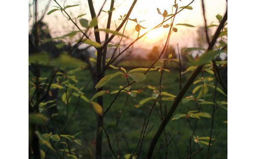
[{"label": "large blurred olive-green leaf overlapping the thick diagonal stem at right", "polygon": [[211,50],[211,51],[208,51],[208,52],[204,53],[203,55],[201,55],[199,57],[199,59],[194,62],[194,64],[198,64],[198,65],[205,64],[205,63],[213,60],[215,58],[215,56],[217,56],[221,52],[224,52],[224,50]]}]

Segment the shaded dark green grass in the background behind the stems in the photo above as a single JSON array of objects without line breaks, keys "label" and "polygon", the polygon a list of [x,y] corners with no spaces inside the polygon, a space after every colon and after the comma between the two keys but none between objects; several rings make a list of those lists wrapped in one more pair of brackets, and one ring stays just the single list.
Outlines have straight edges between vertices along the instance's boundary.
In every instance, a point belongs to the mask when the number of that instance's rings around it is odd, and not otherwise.
[{"label": "shaded dark green grass in the background behind the stems", "polygon": [[[42,69],[41,76],[47,77],[50,74],[50,72],[51,71],[49,71],[48,69]],[[116,72],[116,70],[109,69],[106,71],[106,75],[114,72]],[[79,81],[77,85],[78,88],[85,86],[87,81],[90,78],[89,70],[76,72],[75,75],[77,76],[77,79]],[[183,84],[186,82],[186,79],[189,77],[189,75],[190,73],[187,73],[182,76]],[[32,75],[30,72],[30,80],[31,78],[32,78]],[[136,97],[131,97],[131,96],[128,97],[128,102],[125,105],[125,109],[122,113],[122,117],[119,122],[119,129],[118,129],[119,149],[120,149],[121,155],[125,155],[129,153],[127,145],[124,141],[124,138],[122,137],[122,133],[124,133],[124,135],[128,140],[130,153],[133,153],[139,141],[145,114],[149,112],[153,102],[147,102],[140,108],[136,108],[134,107],[134,105],[138,104],[140,100],[152,95],[152,90],[148,89],[147,85],[158,86],[159,78],[160,78],[160,73],[158,71],[150,71],[147,73],[147,79],[144,82],[134,83],[131,87],[131,90],[138,90],[138,89],[141,89],[142,87],[146,87],[146,88],[143,90],[142,93],[137,94]],[[119,90],[119,86],[120,85],[125,86],[127,84],[126,82],[127,81],[124,77],[117,76],[116,78],[114,78],[104,86],[104,90],[109,90],[110,92],[114,90]],[[177,95],[179,92],[178,72],[175,70],[171,70],[169,73],[164,72],[163,78],[162,78],[162,85],[165,87],[162,91],[166,91],[170,94]],[[195,86],[192,85],[185,96],[192,95],[192,89],[194,87]],[[213,89],[209,88],[209,91],[213,92]],[[91,98],[95,93],[96,93],[96,90],[93,86],[93,83],[90,82],[89,87],[85,91],[85,96],[87,96],[88,98]],[[64,102],[62,102],[61,100],[62,94],[63,94],[62,91],[58,92],[57,108],[59,111],[59,115],[56,116],[55,119],[61,126],[64,126],[66,108],[65,108]],[[110,136],[111,144],[116,154],[117,154],[117,145],[116,145],[116,138],[115,138],[116,114],[122,109],[126,95],[127,94],[125,93],[121,93],[118,99],[112,105],[111,109],[104,116],[104,127],[106,128],[108,135]],[[103,97],[104,109],[108,107],[108,105],[111,103],[114,97],[115,95],[110,95],[110,94],[104,95]],[[78,99],[77,97],[72,97],[71,102],[69,103],[69,115],[73,112],[77,99]],[[205,100],[213,101],[212,96],[206,97]],[[217,100],[226,101],[227,99],[224,95],[217,92]],[[168,110],[172,102],[163,101],[162,104],[163,105],[166,104],[166,108]],[[174,115],[178,113],[184,114],[190,110],[196,110],[196,109],[197,107],[194,101],[190,101],[185,104],[180,103]],[[159,107],[158,107],[158,110],[159,110]],[[212,105],[202,105],[201,111],[212,114]],[[226,121],[226,120],[227,120],[227,111],[222,108],[218,108],[215,114],[214,128],[213,128],[213,138],[215,138],[215,140],[212,142],[213,145],[211,146],[211,151],[210,151],[210,156],[212,159],[227,158],[227,125],[223,124],[223,121]],[[189,121],[191,122],[193,127],[196,119],[190,118]],[[209,119],[201,118],[197,123],[197,129],[195,131],[195,134],[201,137],[209,136],[210,125],[211,125],[210,118]],[[157,114],[156,109],[153,109],[148,129],[151,127],[153,128],[143,141],[143,151],[140,154],[140,159],[145,158],[150,145],[150,141],[153,138],[159,126],[160,126],[160,118]],[[47,123],[47,127],[53,133],[58,132],[58,128],[51,121]],[[76,148],[74,152],[77,155],[78,154],[82,155],[83,159],[93,159],[95,155],[96,116],[93,109],[90,107],[90,104],[84,102],[83,100],[80,100],[75,116],[70,122],[70,124],[68,125],[67,132],[64,132],[63,134],[67,133],[67,134],[73,135],[79,131],[82,131],[82,133],[79,134],[77,137],[81,139],[82,145],[79,146],[74,143],[72,145],[72,148]],[[181,118],[179,120],[169,121],[169,123],[165,128],[165,131],[166,133],[170,133],[171,136],[173,136],[177,131],[181,132],[180,134],[177,134],[173,140],[176,143],[179,152],[177,151],[174,142],[172,142],[168,147],[168,159],[179,159],[179,154],[181,158],[184,159],[187,154],[190,135],[192,135],[192,129],[189,126],[188,119]],[[43,129],[43,127],[40,127],[40,132],[45,133],[45,130]],[[170,141],[169,136],[168,136],[168,141]],[[163,134],[160,136],[160,140],[158,141],[158,144],[153,154],[155,154],[156,151],[159,149],[161,143],[163,144],[163,146],[160,149],[160,152],[158,153],[158,156],[156,157],[156,159],[164,159],[165,141],[164,141]],[[193,145],[192,152],[195,152],[199,149],[198,145],[194,144],[193,141],[192,141],[192,145]],[[204,147],[204,149],[200,153],[194,155],[192,157],[193,159],[201,159],[202,157],[206,158],[208,146],[207,145],[200,145],[200,146]],[[57,144],[57,147],[64,148],[64,145]],[[46,151],[46,147],[42,147],[42,150]],[[103,150],[103,159],[114,158],[111,151],[109,150],[107,138],[105,134],[103,135],[102,150]],[[58,156],[56,156],[56,154],[54,154],[53,152],[50,152],[50,156],[55,156],[56,158],[58,158]],[[124,159],[124,157],[122,159]]]}]

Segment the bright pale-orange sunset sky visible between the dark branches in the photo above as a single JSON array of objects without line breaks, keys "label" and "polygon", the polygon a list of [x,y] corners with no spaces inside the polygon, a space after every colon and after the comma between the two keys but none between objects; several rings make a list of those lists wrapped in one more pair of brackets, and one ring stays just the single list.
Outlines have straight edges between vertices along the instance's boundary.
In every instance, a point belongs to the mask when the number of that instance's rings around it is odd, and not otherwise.
[{"label": "bright pale-orange sunset sky visible between the dark branches", "polygon": [[[76,17],[80,14],[87,13],[82,18],[87,20],[91,20],[91,14],[88,6],[87,0],[57,0],[61,5],[73,5],[73,4],[81,4],[76,7],[67,8],[66,11],[71,15],[71,17]],[[177,0],[178,6],[186,6],[192,0]],[[30,0],[31,2],[31,0]],[[47,4],[48,0],[38,0],[38,10],[42,12]],[[94,7],[96,10],[96,14],[100,10],[104,0],[94,0]],[[107,0],[106,4],[103,7],[103,10],[109,10],[111,0]],[[115,30],[115,22],[117,26],[122,22],[118,20],[120,15],[124,15],[128,12],[130,5],[132,4],[133,0],[115,0],[114,7],[115,10],[112,14],[112,23],[111,23],[111,30]],[[205,3],[205,10],[206,10],[206,19],[207,24],[209,25],[211,22],[218,22],[216,19],[216,15],[224,15],[226,10],[226,1],[225,0],[204,0]],[[138,0],[135,4],[132,13],[130,14],[129,18],[134,19],[137,18],[138,22],[141,22],[140,25],[146,27],[147,29],[141,29],[140,35],[144,32],[147,32],[151,28],[155,27],[162,21],[162,15],[158,14],[157,8],[160,9],[162,13],[164,10],[167,10],[168,14],[171,14],[172,5],[174,4],[174,0]],[[53,0],[50,3],[48,11],[54,9],[54,5],[57,5]],[[196,30],[199,26],[204,25],[203,16],[202,16],[202,8],[201,8],[201,0],[194,0],[193,3],[190,5],[192,6],[192,10],[184,9],[180,12],[174,21],[174,25],[178,23],[187,23],[195,28],[189,28],[184,26],[177,26],[175,28],[178,29],[178,32],[173,32],[170,38],[170,44],[175,45],[179,43],[180,47],[192,47],[195,43],[196,38]],[[175,9],[175,8],[174,8]],[[47,12],[48,12],[47,11]],[[40,15],[40,13],[39,13]],[[107,23],[108,14],[105,12],[101,12],[100,16],[98,17],[98,26],[99,28],[105,28]],[[115,21],[115,22],[114,22]],[[61,36],[69,31],[74,31],[76,28],[74,25],[67,21],[64,16],[61,14],[60,11],[56,11],[50,15],[46,15],[44,18],[44,22],[46,22],[49,26],[51,31],[52,37]],[[170,23],[170,21],[166,22]],[[130,37],[131,39],[136,39],[137,32],[134,31],[136,26],[135,22],[129,21],[127,24],[127,29],[125,31],[125,35]],[[153,46],[158,45],[162,47],[165,43],[167,33],[169,28],[158,28],[149,32],[147,35],[142,37],[138,40],[134,47],[144,47],[147,49],[152,49]],[[104,32],[100,32],[101,39],[104,39]],[[93,34],[92,39],[94,39]],[[114,40],[118,40],[116,37]],[[116,41],[113,42],[115,44]],[[129,43],[129,41],[126,41]]]}]

